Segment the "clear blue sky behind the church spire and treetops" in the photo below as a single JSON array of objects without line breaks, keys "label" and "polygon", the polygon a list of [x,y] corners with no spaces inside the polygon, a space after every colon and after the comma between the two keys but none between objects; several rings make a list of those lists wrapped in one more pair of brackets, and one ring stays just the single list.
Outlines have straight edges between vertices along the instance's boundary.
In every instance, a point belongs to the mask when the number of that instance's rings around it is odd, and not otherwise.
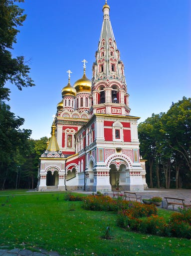
[{"label": "clear blue sky behind the church spire and treetops", "polygon": [[[52,116],[61,90],[92,64],[103,21],[104,0],[25,0],[27,14],[13,46],[13,56],[25,56],[35,87],[21,92],[6,85],[9,105],[23,117],[21,128],[31,138],[50,136]],[[125,65],[131,115],[167,112],[172,102],[191,97],[191,0],[108,0],[110,20]]]}]

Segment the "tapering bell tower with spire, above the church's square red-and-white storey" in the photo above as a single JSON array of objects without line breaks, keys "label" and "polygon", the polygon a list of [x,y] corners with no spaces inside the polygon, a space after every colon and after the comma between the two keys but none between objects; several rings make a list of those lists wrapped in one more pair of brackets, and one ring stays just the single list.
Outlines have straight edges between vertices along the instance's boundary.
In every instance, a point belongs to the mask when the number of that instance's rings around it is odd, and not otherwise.
[{"label": "tapering bell tower with spire, above the church's square red-and-white storey", "polygon": [[124,64],[113,34],[107,1],[102,11],[103,24],[92,68],[93,99],[90,113],[127,116],[130,115],[130,108]]}]

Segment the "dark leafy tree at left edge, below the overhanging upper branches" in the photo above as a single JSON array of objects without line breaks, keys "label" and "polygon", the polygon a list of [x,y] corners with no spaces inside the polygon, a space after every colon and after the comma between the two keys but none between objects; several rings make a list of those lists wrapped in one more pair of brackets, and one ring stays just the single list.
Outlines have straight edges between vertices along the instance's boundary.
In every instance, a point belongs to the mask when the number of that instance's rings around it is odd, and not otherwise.
[{"label": "dark leafy tree at left edge, below the overhanging upper branches", "polygon": [[31,130],[19,129],[24,119],[15,117],[10,107],[0,101],[0,186],[4,188],[10,170],[17,169],[18,154],[24,154]]}]

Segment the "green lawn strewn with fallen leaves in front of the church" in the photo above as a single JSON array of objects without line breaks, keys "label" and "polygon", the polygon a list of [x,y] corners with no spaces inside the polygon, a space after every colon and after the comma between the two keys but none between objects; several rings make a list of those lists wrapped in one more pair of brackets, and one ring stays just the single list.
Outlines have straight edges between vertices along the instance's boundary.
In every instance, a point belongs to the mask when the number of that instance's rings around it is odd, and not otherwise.
[{"label": "green lawn strewn with fallen leaves in front of the church", "polygon": [[[81,204],[65,201],[64,192],[0,192],[1,248],[39,247],[86,256],[191,254],[190,240],[129,232],[116,225],[115,213],[84,210]],[[167,219],[171,213],[159,210]],[[103,239],[108,226],[112,239]]]}]

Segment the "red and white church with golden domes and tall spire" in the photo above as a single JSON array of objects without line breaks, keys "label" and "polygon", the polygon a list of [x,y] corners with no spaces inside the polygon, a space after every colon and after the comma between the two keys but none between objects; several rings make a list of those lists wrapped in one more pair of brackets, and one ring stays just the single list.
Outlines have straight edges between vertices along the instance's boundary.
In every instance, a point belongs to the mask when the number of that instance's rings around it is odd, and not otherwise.
[{"label": "red and white church with golden domes and tall spire", "polygon": [[137,121],[130,115],[124,64],[103,6],[103,24],[92,80],[83,76],[62,89],[51,138],[40,157],[38,191],[143,191],[145,160],[140,159]]}]

